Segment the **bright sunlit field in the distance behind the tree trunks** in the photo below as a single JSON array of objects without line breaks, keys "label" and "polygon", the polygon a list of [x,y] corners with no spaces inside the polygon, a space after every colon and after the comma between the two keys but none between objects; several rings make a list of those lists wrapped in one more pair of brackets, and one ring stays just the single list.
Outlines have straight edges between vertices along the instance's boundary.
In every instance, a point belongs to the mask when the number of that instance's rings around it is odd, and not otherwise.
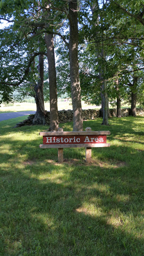
[{"label": "bright sunlit field in the distance behind the tree trunks", "polygon": [[[45,110],[49,110],[49,103],[45,103]],[[99,108],[95,105],[87,105],[82,101],[82,109],[87,108]],[[58,101],[58,110],[62,109],[72,109],[71,101]],[[9,103],[8,105],[1,104],[0,112],[13,112],[13,111],[26,111],[26,110],[33,110],[36,111],[36,104],[35,103],[28,103],[28,102],[15,102],[14,104]]]}]

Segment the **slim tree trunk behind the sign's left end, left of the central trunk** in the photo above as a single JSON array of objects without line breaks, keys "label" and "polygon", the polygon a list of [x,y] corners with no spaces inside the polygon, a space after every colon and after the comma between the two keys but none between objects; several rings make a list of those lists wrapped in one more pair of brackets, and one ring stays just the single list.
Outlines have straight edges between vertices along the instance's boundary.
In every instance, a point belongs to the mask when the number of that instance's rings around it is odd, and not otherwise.
[{"label": "slim tree trunk behind the sign's left end, left of the central trunk", "polygon": [[50,130],[58,129],[57,85],[53,34],[45,33],[47,49],[48,77],[49,77],[49,102],[50,102]]}]

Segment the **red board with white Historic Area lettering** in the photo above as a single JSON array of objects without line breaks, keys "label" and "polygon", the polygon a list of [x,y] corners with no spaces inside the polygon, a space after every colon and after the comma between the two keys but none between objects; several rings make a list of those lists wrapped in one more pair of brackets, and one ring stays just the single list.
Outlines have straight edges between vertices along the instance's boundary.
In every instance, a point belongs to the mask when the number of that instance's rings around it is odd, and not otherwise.
[{"label": "red board with white Historic Area lettering", "polygon": [[106,143],[106,135],[55,135],[43,136],[43,144],[99,144]]}]

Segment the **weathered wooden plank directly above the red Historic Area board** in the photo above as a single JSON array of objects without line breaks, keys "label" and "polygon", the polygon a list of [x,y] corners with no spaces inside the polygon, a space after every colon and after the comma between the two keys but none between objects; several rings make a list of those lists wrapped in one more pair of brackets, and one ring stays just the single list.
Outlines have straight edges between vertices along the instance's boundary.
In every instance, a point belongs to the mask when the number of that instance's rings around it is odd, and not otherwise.
[{"label": "weathered wooden plank directly above the red Historic Area board", "polygon": [[109,130],[95,130],[95,131],[90,131],[90,130],[83,130],[83,131],[40,131],[39,135],[41,136],[64,136],[64,135],[96,135],[96,134],[110,134]]}]

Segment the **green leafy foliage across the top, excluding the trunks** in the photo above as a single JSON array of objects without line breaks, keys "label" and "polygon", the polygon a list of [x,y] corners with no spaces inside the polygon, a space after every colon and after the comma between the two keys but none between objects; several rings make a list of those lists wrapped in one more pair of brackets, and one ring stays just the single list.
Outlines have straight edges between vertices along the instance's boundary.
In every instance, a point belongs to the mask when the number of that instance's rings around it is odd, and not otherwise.
[{"label": "green leafy foliage across the top, excluding the trunks", "polygon": [[[38,8],[43,8],[45,2],[33,0],[19,1],[1,0],[0,18],[12,20],[12,25],[0,30],[0,99],[12,100],[15,81],[20,84],[19,95],[31,96],[31,85],[36,81],[37,71],[32,75],[25,73],[30,56],[39,46],[45,51],[44,15],[38,14]],[[68,59],[68,19],[66,0],[53,0],[49,12],[49,24],[55,33],[57,54],[57,89],[58,96],[63,93],[70,95],[69,59]],[[78,1],[79,28],[79,75],[81,96],[87,102],[100,104],[99,68],[104,66],[104,78],[107,81],[109,101],[116,102],[115,81],[121,100],[130,100],[129,83],[132,76],[138,76],[136,87],[137,103],[143,104],[143,5],[140,0],[108,0]],[[92,8],[97,5],[92,14]],[[36,17],[36,19],[34,18]],[[11,24],[11,23],[10,23]],[[41,26],[41,32],[38,31]],[[47,32],[50,32],[50,26]],[[59,37],[60,36],[60,37]],[[64,43],[63,43],[64,41]],[[105,59],[100,56],[101,46],[104,47]],[[36,61],[36,57],[35,57]],[[30,65],[29,65],[30,67]],[[47,68],[47,67],[46,67]],[[133,73],[133,70],[134,71]],[[47,70],[45,70],[47,76]],[[24,78],[24,79],[23,79]],[[47,77],[46,77],[47,79]],[[45,80],[46,80],[45,79]],[[10,84],[11,83],[11,84]],[[25,93],[25,94],[24,94]],[[48,99],[48,83],[45,82],[44,95]]]}]

